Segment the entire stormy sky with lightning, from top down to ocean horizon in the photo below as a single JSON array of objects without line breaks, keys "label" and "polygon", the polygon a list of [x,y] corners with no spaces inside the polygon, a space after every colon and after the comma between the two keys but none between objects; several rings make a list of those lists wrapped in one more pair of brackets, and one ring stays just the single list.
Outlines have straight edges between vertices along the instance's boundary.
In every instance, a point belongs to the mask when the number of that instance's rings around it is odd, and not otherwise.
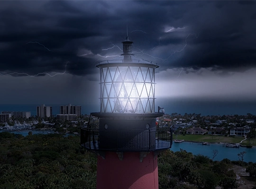
[{"label": "entire stormy sky with lightning, from top down to ocean horizon", "polygon": [[157,99],[256,101],[255,0],[2,0],[0,104],[99,104],[127,25]]}]

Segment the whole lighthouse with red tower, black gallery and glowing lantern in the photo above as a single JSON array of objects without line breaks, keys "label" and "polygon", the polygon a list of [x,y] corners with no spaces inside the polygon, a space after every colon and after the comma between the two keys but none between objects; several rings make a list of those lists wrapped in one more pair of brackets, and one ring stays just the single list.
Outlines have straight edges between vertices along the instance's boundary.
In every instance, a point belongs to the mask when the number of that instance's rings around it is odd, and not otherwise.
[{"label": "whole lighthouse with red tower, black gallery and glowing lantern", "polygon": [[[97,189],[158,189],[157,155],[172,146],[172,128],[157,128],[155,69],[132,54],[100,62],[98,126],[81,129],[81,145],[98,155]],[[90,122],[90,121],[89,121]]]}]

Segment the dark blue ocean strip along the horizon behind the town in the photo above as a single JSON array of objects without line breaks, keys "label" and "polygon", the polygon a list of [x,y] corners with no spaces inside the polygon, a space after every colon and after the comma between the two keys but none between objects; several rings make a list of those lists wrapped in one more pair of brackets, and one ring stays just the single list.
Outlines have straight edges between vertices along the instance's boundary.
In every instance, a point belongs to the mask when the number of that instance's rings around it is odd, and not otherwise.
[{"label": "dark blue ocean strip along the horizon behind the town", "polygon": [[[27,111],[31,115],[36,115],[37,106],[40,104],[0,104],[1,111]],[[64,104],[46,104],[53,107],[53,114],[59,113],[59,106]],[[77,104],[82,106],[82,114],[90,114],[90,112],[99,112],[99,104]],[[246,115],[251,113],[256,115],[256,101],[203,101],[188,99],[168,99],[155,101],[155,111],[157,106],[163,107],[165,113],[174,112],[184,115],[184,113],[201,113],[201,115]]]}]

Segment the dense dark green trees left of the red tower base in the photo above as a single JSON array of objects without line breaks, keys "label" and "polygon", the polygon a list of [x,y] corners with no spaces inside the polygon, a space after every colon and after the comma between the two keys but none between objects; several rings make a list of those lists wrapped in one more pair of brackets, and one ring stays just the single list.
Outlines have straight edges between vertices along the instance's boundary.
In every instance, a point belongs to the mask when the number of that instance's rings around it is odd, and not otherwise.
[{"label": "dense dark green trees left of the red tower base", "polygon": [[95,189],[97,158],[79,139],[0,133],[0,189]]}]

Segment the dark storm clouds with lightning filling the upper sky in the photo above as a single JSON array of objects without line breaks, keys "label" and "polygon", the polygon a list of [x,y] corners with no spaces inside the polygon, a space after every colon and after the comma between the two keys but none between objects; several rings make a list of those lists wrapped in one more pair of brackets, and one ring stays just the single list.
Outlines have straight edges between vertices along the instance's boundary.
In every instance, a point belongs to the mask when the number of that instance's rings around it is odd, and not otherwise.
[{"label": "dark storm clouds with lightning filling the upper sky", "polygon": [[127,23],[134,51],[144,50],[135,54],[160,69],[256,66],[253,0],[15,2],[0,4],[0,73],[63,72],[69,61],[68,73],[93,74],[101,56],[121,53],[102,49],[121,48]]}]

